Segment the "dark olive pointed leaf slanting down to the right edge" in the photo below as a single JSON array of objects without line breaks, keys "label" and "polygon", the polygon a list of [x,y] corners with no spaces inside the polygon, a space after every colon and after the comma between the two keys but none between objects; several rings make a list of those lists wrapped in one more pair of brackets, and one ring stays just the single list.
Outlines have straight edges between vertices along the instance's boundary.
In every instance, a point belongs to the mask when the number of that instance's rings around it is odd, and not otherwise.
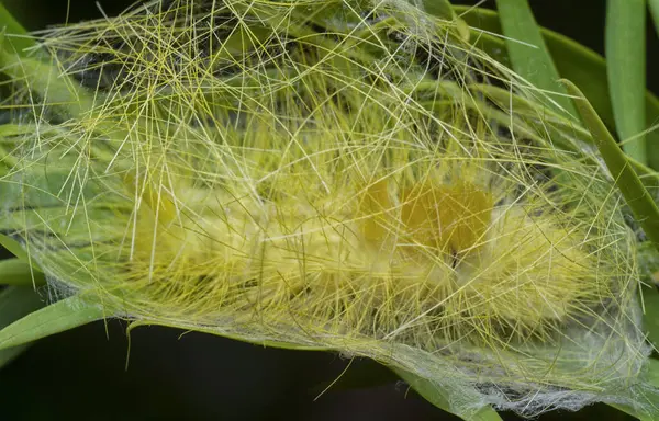
[{"label": "dark olive pointed leaf slanting down to the right edge", "polygon": [[[576,101],[581,120],[591,132],[600,155],[611,171],[613,180],[632,208],[650,241],[659,249],[659,208],[632,168],[625,153],[611,136],[600,116],[583,96],[583,93],[569,80],[563,80],[568,92]],[[579,100],[580,99],[580,100]]]}]

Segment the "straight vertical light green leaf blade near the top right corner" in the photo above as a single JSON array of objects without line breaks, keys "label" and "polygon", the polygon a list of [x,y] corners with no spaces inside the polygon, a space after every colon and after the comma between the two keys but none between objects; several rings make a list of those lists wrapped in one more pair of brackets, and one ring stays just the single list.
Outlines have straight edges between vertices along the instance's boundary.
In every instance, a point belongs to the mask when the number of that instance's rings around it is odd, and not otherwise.
[{"label": "straight vertical light green leaf blade near the top right corner", "polygon": [[623,149],[645,163],[645,1],[608,0],[606,4],[608,90],[617,134],[625,140]]}]

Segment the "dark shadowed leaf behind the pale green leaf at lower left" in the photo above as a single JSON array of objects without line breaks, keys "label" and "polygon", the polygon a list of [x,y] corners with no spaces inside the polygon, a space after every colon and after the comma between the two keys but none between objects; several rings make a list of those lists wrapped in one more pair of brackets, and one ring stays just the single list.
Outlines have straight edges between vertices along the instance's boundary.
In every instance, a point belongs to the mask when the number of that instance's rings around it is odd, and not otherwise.
[{"label": "dark shadowed leaf behind the pale green leaf at lower left", "polygon": [[[43,307],[43,303],[32,287],[10,286],[0,293],[0,329],[13,323]],[[21,352],[26,345],[15,346],[0,351],[0,367],[4,366]]]}]

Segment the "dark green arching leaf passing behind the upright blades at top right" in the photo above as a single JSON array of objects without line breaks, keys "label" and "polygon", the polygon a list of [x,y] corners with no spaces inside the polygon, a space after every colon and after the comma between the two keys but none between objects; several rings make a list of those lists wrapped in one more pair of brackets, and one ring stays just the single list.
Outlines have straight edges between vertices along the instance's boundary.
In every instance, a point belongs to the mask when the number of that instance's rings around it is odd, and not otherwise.
[{"label": "dark green arching leaf passing behind the upright blades at top right", "polygon": [[[655,1],[659,2],[659,0]],[[472,31],[472,39],[480,48],[504,65],[512,66],[506,54],[504,41],[489,34],[502,33],[499,15],[495,12],[487,9],[460,5],[456,5],[454,9],[472,29],[488,32],[478,33],[478,31]],[[540,33],[554,58],[560,77],[571,80],[579,87],[606,126],[615,130],[616,124],[607,89],[605,59],[592,49],[565,35],[547,29],[540,29]],[[646,124],[650,127],[659,121],[659,99],[649,91],[645,92],[645,107]],[[648,145],[659,145],[659,130],[647,133],[646,141]],[[659,148],[649,147],[647,153],[650,167],[655,170],[659,169]]]}]

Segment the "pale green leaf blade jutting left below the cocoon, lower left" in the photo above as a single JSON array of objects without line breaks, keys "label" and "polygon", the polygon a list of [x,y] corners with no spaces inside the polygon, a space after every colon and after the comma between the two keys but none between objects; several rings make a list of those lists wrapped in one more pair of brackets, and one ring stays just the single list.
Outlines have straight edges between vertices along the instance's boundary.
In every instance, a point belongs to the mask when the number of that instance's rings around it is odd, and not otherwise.
[{"label": "pale green leaf blade jutting left below the cocoon, lower left", "polygon": [[0,350],[30,343],[111,316],[103,308],[72,296],[34,311],[0,330]]}]

